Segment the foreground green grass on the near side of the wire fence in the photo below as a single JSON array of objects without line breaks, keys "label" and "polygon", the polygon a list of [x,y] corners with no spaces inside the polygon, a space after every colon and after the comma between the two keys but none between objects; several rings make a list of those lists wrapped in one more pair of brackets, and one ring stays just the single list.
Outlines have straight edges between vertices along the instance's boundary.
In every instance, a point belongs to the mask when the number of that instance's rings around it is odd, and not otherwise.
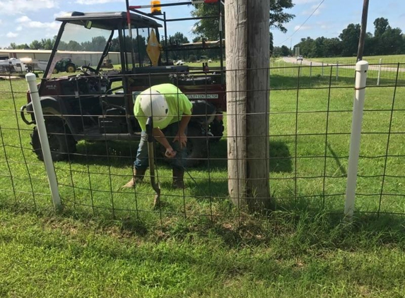
[{"label": "foreground green grass on the near side of the wire fence", "polygon": [[403,297],[401,219],[110,222],[0,210],[1,297]]}]

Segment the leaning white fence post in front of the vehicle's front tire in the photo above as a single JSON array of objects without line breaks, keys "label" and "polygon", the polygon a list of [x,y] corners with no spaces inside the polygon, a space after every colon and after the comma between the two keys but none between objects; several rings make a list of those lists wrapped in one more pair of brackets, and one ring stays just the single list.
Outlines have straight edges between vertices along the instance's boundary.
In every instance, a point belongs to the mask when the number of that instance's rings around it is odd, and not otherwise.
[{"label": "leaning white fence post in front of the vehicle's front tire", "polygon": [[51,150],[49,148],[47,129],[45,127],[44,114],[42,114],[42,107],[40,102],[40,95],[38,95],[37,77],[34,73],[25,75],[30,89],[31,100],[33,102],[33,109],[35,114],[35,121],[37,122],[38,134],[40,136],[42,156],[44,157],[45,169],[47,170],[49,188],[51,189],[52,201],[55,210],[62,209],[61,197],[59,196],[57,175],[55,174],[54,164],[52,162]]}]

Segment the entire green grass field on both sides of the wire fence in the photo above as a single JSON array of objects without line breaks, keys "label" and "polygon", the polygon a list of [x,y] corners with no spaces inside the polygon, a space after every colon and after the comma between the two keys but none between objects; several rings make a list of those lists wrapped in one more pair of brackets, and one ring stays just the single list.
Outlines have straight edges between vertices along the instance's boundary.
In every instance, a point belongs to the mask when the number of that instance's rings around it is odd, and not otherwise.
[{"label": "entire green grass field on both sides of the wire fence", "polygon": [[[359,219],[348,225],[354,75],[333,71],[271,70],[269,218],[228,203],[225,138],[189,169],[196,183],[186,174],[184,193],[158,163],[157,211],[148,183],[119,191],[136,142],[81,142],[71,162],[55,164],[66,208],[54,215],[32,127],[18,114],[26,83],[0,81],[0,297],[403,297],[403,218],[383,214],[405,213],[402,73],[397,88],[385,73],[366,90]],[[378,211],[379,220],[363,214]]]}]

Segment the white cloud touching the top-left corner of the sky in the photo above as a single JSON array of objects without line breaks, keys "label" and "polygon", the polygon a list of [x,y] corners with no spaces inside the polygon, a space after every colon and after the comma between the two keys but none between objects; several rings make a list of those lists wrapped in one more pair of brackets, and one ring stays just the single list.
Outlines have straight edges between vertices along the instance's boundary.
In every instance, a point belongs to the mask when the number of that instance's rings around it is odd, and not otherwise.
[{"label": "white cloud touching the top-left corner of the sky", "polygon": [[0,14],[16,15],[27,11],[57,7],[57,0],[1,0]]}]

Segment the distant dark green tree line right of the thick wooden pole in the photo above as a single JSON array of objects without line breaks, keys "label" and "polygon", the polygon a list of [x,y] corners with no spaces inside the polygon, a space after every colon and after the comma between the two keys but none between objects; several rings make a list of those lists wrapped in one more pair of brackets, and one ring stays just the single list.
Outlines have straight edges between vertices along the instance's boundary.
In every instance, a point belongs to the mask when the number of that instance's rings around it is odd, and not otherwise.
[{"label": "distant dark green tree line right of the thick wooden pole", "polygon": [[[394,55],[405,54],[405,35],[400,28],[392,28],[387,18],[376,18],[374,34],[367,32],[365,36],[364,55]],[[360,38],[360,24],[349,24],[339,37],[302,38],[295,47],[300,48],[300,54],[306,57],[335,57],[356,56],[358,40]],[[273,56],[288,56],[293,49],[288,47],[274,47]]]}]

